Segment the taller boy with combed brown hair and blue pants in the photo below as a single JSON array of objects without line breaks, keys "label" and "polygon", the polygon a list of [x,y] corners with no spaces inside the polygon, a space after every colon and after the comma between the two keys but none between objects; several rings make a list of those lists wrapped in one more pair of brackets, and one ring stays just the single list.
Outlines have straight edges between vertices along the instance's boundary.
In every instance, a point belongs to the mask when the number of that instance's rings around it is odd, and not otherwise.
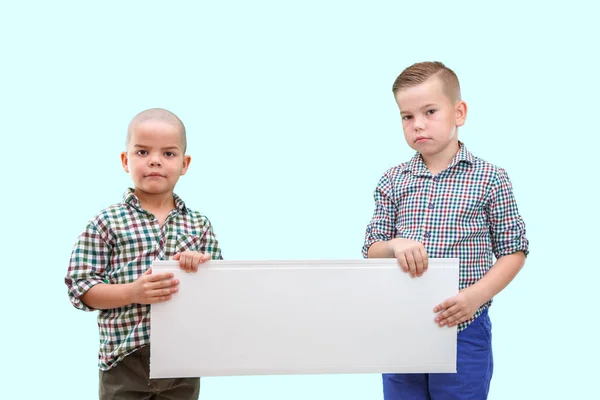
[{"label": "taller boy with combed brown hair and blue pants", "polygon": [[525,225],[506,172],[458,140],[467,105],[456,74],[440,62],[417,63],[392,91],[416,154],[379,180],[363,256],[396,258],[412,277],[426,273],[429,257],[458,258],[460,278],[459,293],[440,299],[432,317],[458,327],[457,373],[384,374],[384,398],[486,399],[493,371],[488,308],[525,263]]}]

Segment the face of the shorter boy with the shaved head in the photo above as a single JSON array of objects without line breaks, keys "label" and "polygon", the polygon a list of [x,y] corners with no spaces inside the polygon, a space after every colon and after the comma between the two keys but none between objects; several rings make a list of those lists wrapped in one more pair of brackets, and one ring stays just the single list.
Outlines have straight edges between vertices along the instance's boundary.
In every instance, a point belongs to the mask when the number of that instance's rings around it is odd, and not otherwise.
[{"label": "face of the shorter boy with the shaved head", "polygon": [[136,191],[170,194],[190,164],[184,155],[180,128],[165,121],[148,120],[132,127],[127,152],[121,154]]}]

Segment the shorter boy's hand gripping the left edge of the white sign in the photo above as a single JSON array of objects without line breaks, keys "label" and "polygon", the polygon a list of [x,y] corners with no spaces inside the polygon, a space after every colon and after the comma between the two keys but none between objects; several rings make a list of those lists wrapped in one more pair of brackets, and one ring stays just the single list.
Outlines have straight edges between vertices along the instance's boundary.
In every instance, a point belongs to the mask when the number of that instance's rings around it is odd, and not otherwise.
[{"label": "shorter boy's hand gripping the left edge of the white sign", "polygon": [[179,281],[173,278],[172,272],[150,275],[148,268],[144,275],[131,284],[131,303],[154,304],[171,299],[177,292]]}]

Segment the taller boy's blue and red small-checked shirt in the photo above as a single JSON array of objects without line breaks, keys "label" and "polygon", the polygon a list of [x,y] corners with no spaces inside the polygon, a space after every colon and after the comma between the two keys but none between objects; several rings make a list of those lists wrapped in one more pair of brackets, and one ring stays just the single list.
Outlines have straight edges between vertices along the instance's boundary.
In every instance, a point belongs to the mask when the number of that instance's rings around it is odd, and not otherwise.
[{"label": "taller boy's blue and red small-checked shirt", "polygon": [[[487,273],[493,256],[528,254],[525,224],[506,171],[474,157],[462,143],[450,166],[435,177],[419,153],[390,168],[374,197],[375,212],[362,249],[365,258],[377,241],[415,240],[430,258],[459,258],[459,289],[464,289]],[[483,304],[458,330],[491,303]]]}]

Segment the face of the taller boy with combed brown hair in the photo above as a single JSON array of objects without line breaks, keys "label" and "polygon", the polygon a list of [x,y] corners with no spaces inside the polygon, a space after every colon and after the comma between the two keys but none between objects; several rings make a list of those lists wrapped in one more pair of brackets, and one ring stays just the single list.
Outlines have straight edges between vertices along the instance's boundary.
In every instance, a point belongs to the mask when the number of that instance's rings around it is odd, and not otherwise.
[{"label": "face of the taller boy with combed brown hair", "polygon": [[442,81],[432,76],[425,82],[396,93],[402,129],[408,145],[424,157],[456,151],[456,127],[465,123],[467,105],[454,103]]}]

